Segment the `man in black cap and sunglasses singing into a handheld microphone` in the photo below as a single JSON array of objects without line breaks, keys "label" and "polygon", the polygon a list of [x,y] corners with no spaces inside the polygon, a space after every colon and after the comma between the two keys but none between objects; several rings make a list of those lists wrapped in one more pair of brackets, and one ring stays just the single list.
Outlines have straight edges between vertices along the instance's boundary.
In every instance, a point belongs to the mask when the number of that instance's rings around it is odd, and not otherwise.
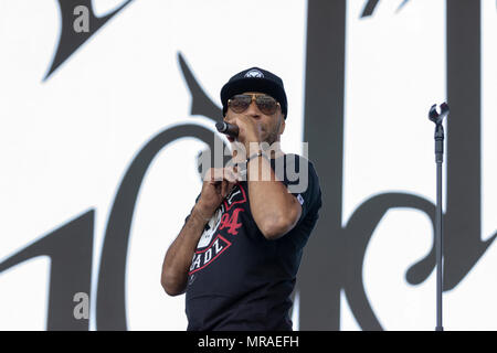
[{"label": "man in black cap and sunglasses singing into a handheld microphone", "polygon": [[287,116],[279,77],[243,71],[223,86],[221,103],[224,121],[239,128],[229,137],[241,147],[234,160],[245,163],[205,173],[161,284],[170,296],[187,293],[188,330],[292,330],[290,295],[321,206],[318,176],[307,159],[279,148]]}]

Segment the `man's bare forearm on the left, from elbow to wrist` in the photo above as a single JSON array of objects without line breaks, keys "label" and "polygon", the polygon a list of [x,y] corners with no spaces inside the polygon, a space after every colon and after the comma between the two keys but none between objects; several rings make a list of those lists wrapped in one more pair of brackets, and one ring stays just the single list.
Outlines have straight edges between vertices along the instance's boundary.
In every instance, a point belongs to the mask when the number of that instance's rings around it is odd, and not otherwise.
[{"label": "man's bare forearm on the left, from elbow to wrist", "polygon": [[197,203],[175,242],[169,246],[162,263],[160,282],[169,296],[179,296],[187,289],[188,271],[197,244],[208,218]]}]

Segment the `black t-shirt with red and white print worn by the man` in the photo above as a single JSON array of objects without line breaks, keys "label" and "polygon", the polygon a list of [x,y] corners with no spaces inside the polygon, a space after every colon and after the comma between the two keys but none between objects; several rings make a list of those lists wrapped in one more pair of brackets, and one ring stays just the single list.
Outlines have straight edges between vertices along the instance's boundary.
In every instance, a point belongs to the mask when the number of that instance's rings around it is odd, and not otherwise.
[{"label": "black t-shirt with red and white print worn by the man", "polygon": [[[284,163],[271,164],[302,205],[298,223],[267,240],[252,217],[247,182],[239,182],[205,225],[193,256],[186,296],[189,331],[292,330],[290,293],[321,191],[310,161],[297,154],[279,159]],[[296,180],[300,168],[307,182]]]}]

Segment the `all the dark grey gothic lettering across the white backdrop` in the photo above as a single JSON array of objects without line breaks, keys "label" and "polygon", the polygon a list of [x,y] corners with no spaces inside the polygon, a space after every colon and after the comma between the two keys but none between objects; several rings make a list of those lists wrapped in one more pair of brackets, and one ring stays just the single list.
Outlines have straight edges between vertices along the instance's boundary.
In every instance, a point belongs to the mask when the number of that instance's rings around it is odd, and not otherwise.
[{"label": "all the dark grey gothic lettering across the white backdrop", "polygon": [[[92,12],[92,31],[84,38],[84,33],[75,35],[70,25],[72,8],[67,3],[75,7],[75,1],[60,0],[62,34],[45,79],[130,1],[102,19]],[[89,1],[77,4],[91,8]],[[371,15],[377,4],[378,1],[368,1],[361,17]],[[479,1],[451,0],[446,9],[447,94],[452,114],[447,120],[444,289],[450,290],[464,279],[497,234],[486,242],[480,239],[480,6]],[[95,19],[99,25],[95,25]],[[361,328],[381,330],[362,282],[369,240],[383,215],[394,207],[420,210],[434,222],[434,205],[430,201],[408,193],[383,193],[359,205],[346,226],[341,226],[345,39],[346,1],[309,0],[304,140],[309,141],[309,157],[319,172],[324,206],[306,248],[297,284],[302,330],[338,330],[341,290]],[[192,95],[190,114],[205,116],[213,122],[219,120],[221,109],[202,90],[183,57],[178,58]],[[96,300],[98,330],[127,329],[126,255],[136,197],[152,159],[182,137],[199,138],[211,151],[218,139],[213,131],[198,125],[166,129],[144,146],[123,178],[101,257]],[[91,292],[93,226],[94,210],[91,210],[0,264],[2,272],[29,258],[51,257],[49,330],[88,330],[87,320],[73,318],[72,298],[75,292]],[[409,268],[406,280],[412,285],[423,282],[434,266],[433,244],[430,253]]]}]

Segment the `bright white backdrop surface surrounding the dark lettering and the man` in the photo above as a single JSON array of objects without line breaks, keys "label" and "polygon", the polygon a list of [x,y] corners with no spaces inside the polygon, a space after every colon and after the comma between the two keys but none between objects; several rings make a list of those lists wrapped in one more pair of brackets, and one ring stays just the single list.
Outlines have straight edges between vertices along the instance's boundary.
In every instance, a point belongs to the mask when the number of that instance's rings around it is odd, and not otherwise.
[{"label": "bright white backdrop surface surrounding the dark lettering and the man", "polygon": [[[445,1],[411,0],[399,12],[401,0],[380,1],[374,17],[360,19],[364,2],[347,6],[343,224],[358,204],[380,192],[410,192],[435,202],[434,127],[426,114],[446,99]],[[98,15],[120,3],[93,1]],[[288,96],[283,149],[299,153],[306,10],[306,1],[288,0],[134,1],[43,82],[59,43],[56,2],[1,0],[0,263],[95,208],[94,330],[103,236],[130,161],[168,126],[213,128],[209,119],[190,115],[178,52],[218,105],[222,85],[244,68],[261,66],[279,75]],[[482,1],[482,33],[486,239],[497,228],[495,1]],[[168,297],[159,279],[165,252],[200,191],[195,156],[203,148],[193,138],[178,140],[146,174],[128,247],[130,330],[186,329],[184,297]],[[404,279],[405,269],[430,250],[432,237],[430,220],[416,211],[390,211],[377,227],[363,282],[384,329],[434,329],[435,274],[419,286]],[[445,292],[445,329],[497,329],[496,252],[493,244]],[[50,265],[50,258],[39,257],[0,274],[0,330],[45,329]],[[359,329],[345,296],[341,329]]]}]

